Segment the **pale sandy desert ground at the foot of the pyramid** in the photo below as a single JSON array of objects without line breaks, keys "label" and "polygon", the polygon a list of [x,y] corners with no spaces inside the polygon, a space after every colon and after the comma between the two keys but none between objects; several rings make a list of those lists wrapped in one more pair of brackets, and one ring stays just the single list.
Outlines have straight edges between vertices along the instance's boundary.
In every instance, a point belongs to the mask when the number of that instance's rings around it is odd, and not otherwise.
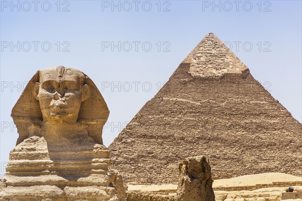
[{"label": "pale sandy desert ground at the foot of the pyramid", "polygon": [[[286,192],[289,186],[293,186],[297,192],[302,192],[302,177],[291,174],[271,172],[217,179],[214,180],[212,186],[216,201],[302,201],[301,198],[281,199],[282,192]],[[225,190],[221,190],[223,188]],[[128,185],[130,192],[158,192],[175,196],[176,190],[177,184]]]}]

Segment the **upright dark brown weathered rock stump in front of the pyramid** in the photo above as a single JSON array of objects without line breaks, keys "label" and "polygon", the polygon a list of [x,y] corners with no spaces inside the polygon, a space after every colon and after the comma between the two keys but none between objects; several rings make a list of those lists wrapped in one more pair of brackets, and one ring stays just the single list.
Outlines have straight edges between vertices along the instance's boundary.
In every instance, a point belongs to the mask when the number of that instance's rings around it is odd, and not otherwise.
[{"label": "upright dark brown weathered rock stump in front of the pyramid", "polygon": [[186,158],[179,165],[177,201],[214,201],[211,167],[205,156]]}]

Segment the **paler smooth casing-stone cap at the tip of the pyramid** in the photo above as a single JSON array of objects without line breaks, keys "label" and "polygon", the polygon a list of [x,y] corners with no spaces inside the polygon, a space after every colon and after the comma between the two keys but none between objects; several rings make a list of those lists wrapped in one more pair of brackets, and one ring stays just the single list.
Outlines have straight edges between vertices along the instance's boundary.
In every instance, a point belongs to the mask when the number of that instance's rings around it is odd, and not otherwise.
[{"label": "paler smooth casing-stone cap at the tip of the pyramid", "polygon": [[242,73],[248,67],[213,33],[208,33],[182,63],[189,63],[193,76],[217,77]]}]

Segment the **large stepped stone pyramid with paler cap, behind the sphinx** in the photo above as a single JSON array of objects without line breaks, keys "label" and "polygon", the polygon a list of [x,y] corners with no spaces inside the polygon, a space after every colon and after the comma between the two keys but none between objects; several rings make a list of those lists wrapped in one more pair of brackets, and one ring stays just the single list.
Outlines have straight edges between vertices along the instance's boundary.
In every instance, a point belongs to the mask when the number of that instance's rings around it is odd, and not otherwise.
[{"label": "large stepped stone pyramid with paler cap, behind the sphinx", "polygon": [[302,175],[302,125],[207,34],[109,146],[125,182],[176,183],[184,158],[206,155],[214,178]]}]

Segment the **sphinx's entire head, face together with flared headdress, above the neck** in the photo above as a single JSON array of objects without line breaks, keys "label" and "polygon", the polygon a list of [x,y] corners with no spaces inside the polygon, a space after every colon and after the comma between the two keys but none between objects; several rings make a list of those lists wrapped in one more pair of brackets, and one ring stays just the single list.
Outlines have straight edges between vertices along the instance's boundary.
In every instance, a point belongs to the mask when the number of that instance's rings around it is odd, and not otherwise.
[{"label": "sphinx's entire head, face together with flared headdress, above the neck", "polygon": [[11,116],[19,133],[17,144],[31,136],[43,136],[43,125],[58,122],[77,124],[102,144],[102,128],[109,110],[97,86],[85,73],[58,66],[36,72]]}]

